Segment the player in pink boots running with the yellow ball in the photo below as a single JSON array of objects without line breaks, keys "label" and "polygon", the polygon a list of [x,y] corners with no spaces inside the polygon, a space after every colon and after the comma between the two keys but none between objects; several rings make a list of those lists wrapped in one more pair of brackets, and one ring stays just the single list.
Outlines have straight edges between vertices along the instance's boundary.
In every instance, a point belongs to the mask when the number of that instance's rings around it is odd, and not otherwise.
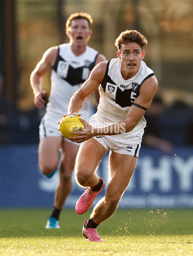
[{"label": "player in pink boots running with the yellow ball", "polygon": [[80,118],[87,125],[87,132],[69,138],[75,143],[82,142],[76,158],[76,179],[87,189],[77,201],[78,214],[87,212],[104,188],[104,181],[97,176],[96,169],[110,149],[106,194],[83,225],[83,236],[89,241],[103,241],[96,227],[117,209],[139,156],[146,126],[143,116],[158,88],[152,69],[143,61],[146,44],[147,39],[138,31],[122,32],[115,41],[118,57],[101,62],[92,70],[87,81],[72,96],[68,114],[63,115],[80,116],[85,99],[100,87],[99,105],[90,124]]}]

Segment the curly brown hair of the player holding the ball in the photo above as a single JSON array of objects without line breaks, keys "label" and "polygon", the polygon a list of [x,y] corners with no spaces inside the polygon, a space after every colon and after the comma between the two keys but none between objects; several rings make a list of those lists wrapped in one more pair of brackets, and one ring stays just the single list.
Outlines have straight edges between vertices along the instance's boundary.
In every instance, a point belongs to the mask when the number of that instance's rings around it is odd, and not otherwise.
[{"label": "curly brown hair of the player holding the ball", "polygon": [[122,44],[128,43],[137,43],[143,50],[143,46],[147,45],[147,38],[136,30],[125,30],[116,38],[115,46],[120,52]]}]

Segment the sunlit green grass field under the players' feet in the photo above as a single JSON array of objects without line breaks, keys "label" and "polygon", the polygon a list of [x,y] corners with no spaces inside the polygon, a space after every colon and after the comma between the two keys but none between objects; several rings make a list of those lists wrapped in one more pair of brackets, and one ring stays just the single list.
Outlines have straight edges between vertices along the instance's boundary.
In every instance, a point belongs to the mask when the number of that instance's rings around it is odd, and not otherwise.
[{"label": "sunlit green grass field under the players' feet", "polygon": [[98,226],[103,243],[82,236],[90,211],[64,209],[59,230],[46,230],[51,209],[0,209],[1,256],[193,255],[193,210],[126,209]]}]

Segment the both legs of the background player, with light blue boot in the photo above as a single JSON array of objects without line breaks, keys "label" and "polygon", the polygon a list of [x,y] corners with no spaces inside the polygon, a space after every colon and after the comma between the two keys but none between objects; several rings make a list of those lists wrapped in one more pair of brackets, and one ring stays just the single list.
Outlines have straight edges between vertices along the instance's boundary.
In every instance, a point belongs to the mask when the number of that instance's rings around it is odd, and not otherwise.
[{"label": "both legs of the background player, with light blue boot", "polygon": [[[50,145],[52,145],[50,147]],[[72,173],[79,146],[63,137],[46,137],[41,139],[39,145],[39,165],[43,174],[51,174],[59,163],[59,148],[62,147],[60,181],[54,197],[54,209],[47,221],[46,228],[60,228],[59,216],[64,202],[72,187]]]}]

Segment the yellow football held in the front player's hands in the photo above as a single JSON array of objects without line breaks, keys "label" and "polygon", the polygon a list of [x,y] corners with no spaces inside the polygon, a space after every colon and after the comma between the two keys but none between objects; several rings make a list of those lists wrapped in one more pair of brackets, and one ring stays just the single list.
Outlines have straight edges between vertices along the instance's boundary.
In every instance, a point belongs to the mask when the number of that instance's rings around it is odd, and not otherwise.
[{"label": "yellow football held in the front player's hands", "polygon": [[85,129],[85,125],[80,121],[79,116],[69,115],[69,116],[63,117],[60,120],[60,132],[67,139],[69,139],[69,137],[81,135],[81,134],[74,134],[71,132],[79,131],[84,133],[84,129]]}]

